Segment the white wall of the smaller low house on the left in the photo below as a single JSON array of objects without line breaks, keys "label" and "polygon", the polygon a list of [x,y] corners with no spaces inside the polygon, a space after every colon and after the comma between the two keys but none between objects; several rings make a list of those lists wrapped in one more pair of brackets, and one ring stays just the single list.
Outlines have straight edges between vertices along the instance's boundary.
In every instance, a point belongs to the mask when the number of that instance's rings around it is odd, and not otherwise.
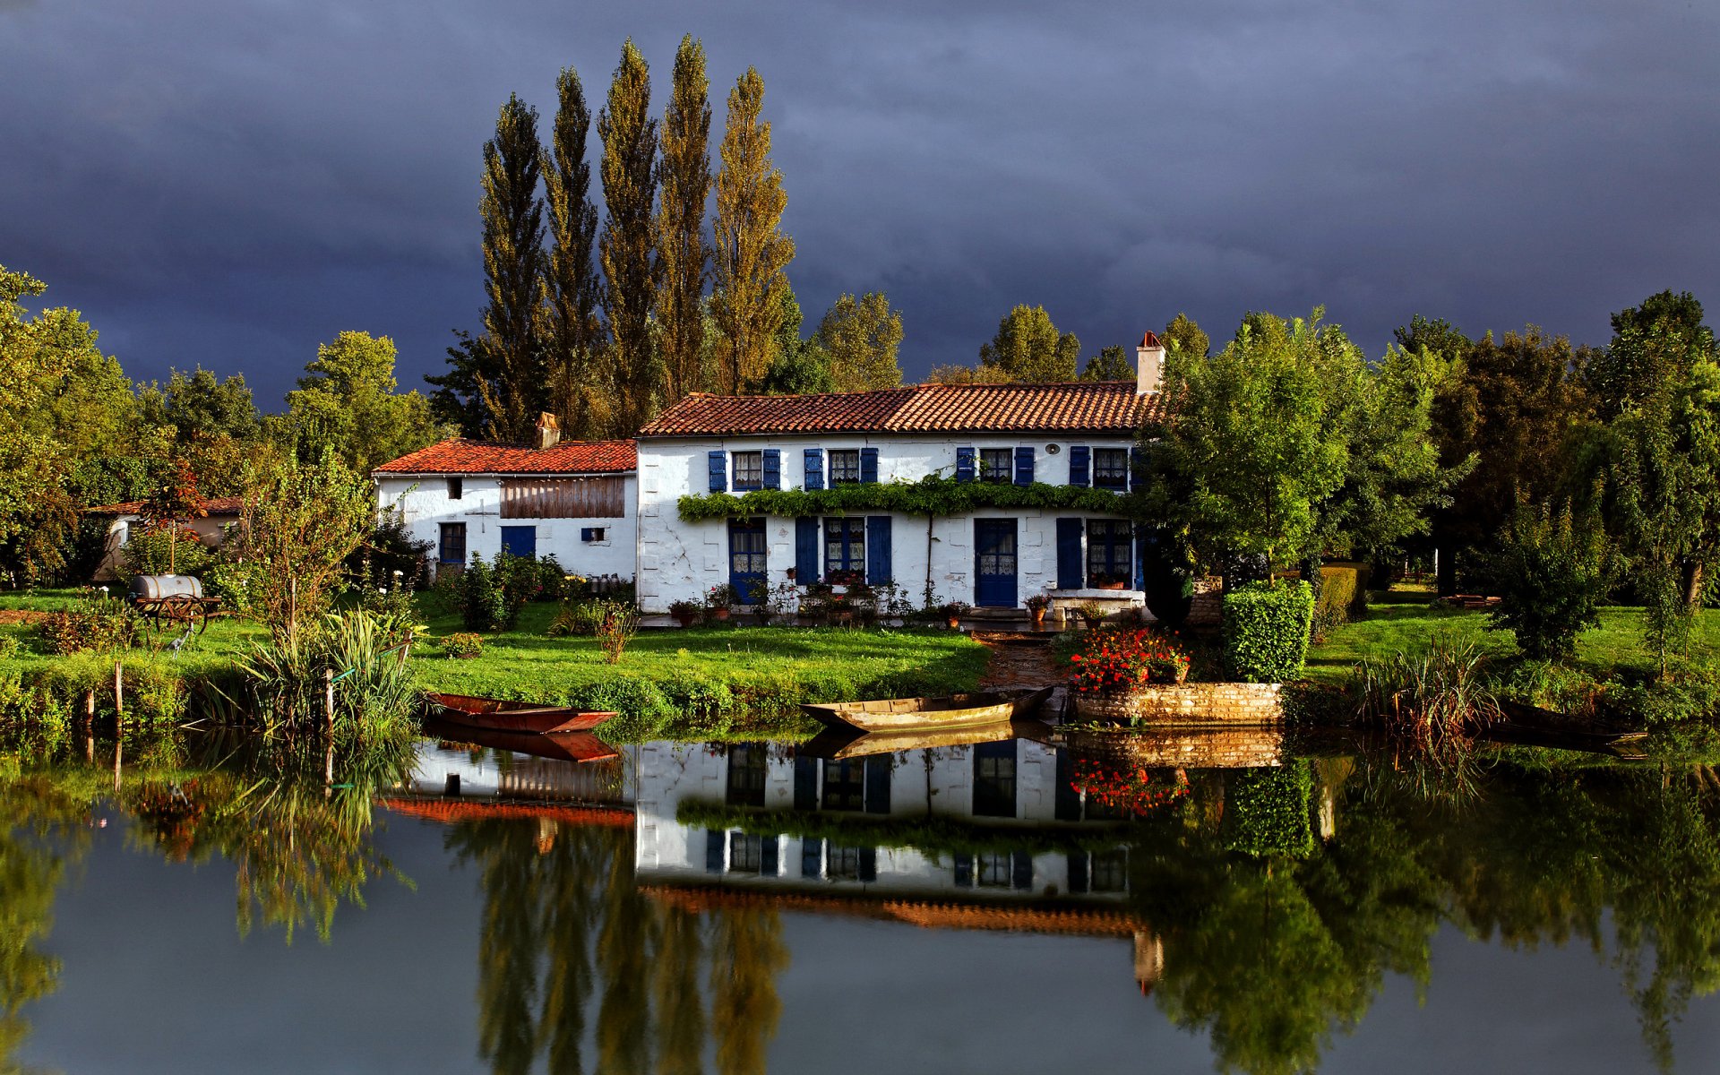
[{"label": "white wall of the smaller low house on the left", "polygon": [[[561,476],[561,475],[525,475]],[[430,561],[435,566],[442,523],[466,525],[466,561],[473,552],[485,561],[495,559],[502,549],[501,526],[537,526],[537,554],[554,556],[573,574],[616,574],[630,580],[635,574],[635,521],[619,519],[504,519],[502,478],[497,475],[461,475],[461,497],[449,499],[444,475],[377,478],[377,509],[396,504],[406,514],[406,528],[418,540],[430,542]],[[638,501],[638,485],[626,475],[623,504]],[[580,531],[590,526],[604,528],[604,540],[581,542]]]}]

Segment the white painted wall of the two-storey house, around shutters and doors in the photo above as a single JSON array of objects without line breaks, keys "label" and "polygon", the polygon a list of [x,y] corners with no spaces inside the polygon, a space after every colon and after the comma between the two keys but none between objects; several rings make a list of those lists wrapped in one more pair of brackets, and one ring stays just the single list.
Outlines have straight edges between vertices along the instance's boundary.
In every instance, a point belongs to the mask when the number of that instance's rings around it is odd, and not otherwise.
[{"label": "white painted wall of the two-storey house, around shutters and doors", "polygon": [[[937,473],[953,476],[956,449],[1030,445],[1034,449],[1034,480],[1066,485],[1070,478],[1070,447],[1128,449],[1128,437],[927,437],[927,435],[848,435],[848,437],[724,437],[724,439],[669,439],[647,437],[638,442],[638,600],[647,612],[662,612],[674,600],[703,600],[710,587],[729,581],[728,521],[709,519],[685,523],[676,502],[688,494],[710,492],[707,452],[710,451],[762,451],[777,449],[783,461],[783,488],[803,488],[805,449],[879,449],[879,482],[918,482]],[[1058,445],[1051,454],[1049,445]],[[733,492],[733,488],[731,488]],[[920,604],[931,574],[936,604],[961,600],[974,604],[974,519],[1015,518],[1017,526],[1017,605],[1037,592],[1056,585],[1058,550],[1056,519],[1072,516],[1109,518],[1078,511],[996,509],[968,516],[937,519],[927,542],[927,521],[915,516],[896,516],[891,526],[891,564],[896,583]],[[788,581],[795,566],[795,521],[769,518],[765,521],[767,562],[771,585]],[[929,552],[927,552],[929,547]],[[822,550],[820,550],[822,557]],[[803,581],[803,580],[802,580]]]}]

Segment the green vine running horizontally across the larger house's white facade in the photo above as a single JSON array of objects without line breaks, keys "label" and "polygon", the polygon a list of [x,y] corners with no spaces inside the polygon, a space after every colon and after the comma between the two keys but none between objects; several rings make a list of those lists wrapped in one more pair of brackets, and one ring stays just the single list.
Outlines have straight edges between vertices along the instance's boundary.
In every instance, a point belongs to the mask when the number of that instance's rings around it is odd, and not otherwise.
[{"label": "green vine running horizontally across the larger house's white facade", "polygon": [[777,516],[802,519],[826,514],[888,511],[946,518],[987,507],[1041,507],[1047,511],[1096,511],[1123,514],[1127,497],[1082,485],[1004,485],[1001,482],[956,482],[931,475],[918,482],[869,482],[836,488],[755,488],[681,497],[681,521]]}]

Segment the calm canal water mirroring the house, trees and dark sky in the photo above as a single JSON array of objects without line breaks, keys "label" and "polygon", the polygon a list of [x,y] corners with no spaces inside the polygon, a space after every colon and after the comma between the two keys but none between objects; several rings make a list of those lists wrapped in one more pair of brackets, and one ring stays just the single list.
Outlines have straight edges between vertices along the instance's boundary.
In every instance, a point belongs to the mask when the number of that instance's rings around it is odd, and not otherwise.
[{"label": "calm canal water mirroring the house, trees and dark sky", "polygon": [[1720,1066],[1708,772],[7,743],[0,1070]]}]

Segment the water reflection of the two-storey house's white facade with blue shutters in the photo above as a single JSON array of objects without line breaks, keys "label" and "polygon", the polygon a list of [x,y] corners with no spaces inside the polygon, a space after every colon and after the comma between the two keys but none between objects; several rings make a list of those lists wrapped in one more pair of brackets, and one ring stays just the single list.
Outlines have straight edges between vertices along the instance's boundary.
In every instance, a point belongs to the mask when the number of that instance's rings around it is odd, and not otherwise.
[{"label": "water reflection of the two-storey house's white facade with blue shutters", "polygon": [[1106,846],[1068,759],[1029,740],[841,760],[648,743],[636,759],[640,884],[918,900],[1128,888],[1128,853]]}]

